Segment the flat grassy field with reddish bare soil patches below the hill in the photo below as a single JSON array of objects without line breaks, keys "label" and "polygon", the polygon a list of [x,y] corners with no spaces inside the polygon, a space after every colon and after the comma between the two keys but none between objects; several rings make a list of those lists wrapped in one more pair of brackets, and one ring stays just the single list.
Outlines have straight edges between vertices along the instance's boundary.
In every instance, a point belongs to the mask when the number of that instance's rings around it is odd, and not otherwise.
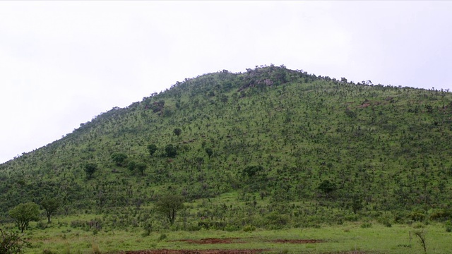
[{"label": "flat grassy field with reddish bare soil patches below the hill", "polygon": [[[442,224],[345,223],[307,229],[254,231],[85,231],[56,219],[47,229],[26,231],[32,248],[25,253],[121,253],[131,250],[265,250],[264,253],[423,253],[413,231],[424,231],[427,253],[451,251],[452,234]],[[411,238],[411,239],[410,239]],[[207,240],[206,240],[207,239]],[[220,240],[217,240],[220,239]],[[309,240],[309,241],[300,241]]]}]

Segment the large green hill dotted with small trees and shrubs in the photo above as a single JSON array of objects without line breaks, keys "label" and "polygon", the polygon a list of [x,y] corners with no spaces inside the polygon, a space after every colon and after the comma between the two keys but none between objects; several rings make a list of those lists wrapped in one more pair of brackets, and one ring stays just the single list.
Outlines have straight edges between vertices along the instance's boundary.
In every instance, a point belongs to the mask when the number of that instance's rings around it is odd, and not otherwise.
[{"label": "large green hill dotted with small trees and shrubs", "polygon": [[21,202],[59,198],[60,214],[141,226],[172,192],[187,204],[184,226],[443,220],[452,211],[450,140],[450,92],[284,66],[209,73],[1,164],[0,218],[10,221]]}]

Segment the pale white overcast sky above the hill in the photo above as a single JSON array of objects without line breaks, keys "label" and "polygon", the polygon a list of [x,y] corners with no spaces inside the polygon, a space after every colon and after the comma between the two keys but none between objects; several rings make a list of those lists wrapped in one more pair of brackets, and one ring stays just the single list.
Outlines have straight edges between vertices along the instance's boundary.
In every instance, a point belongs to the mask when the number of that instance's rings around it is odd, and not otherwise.
[{"label": "pale white overcast sky above the hill", "polygon": [[222,69],[452,90],[451,14],[452,1],[0,1],[0,163]]}]

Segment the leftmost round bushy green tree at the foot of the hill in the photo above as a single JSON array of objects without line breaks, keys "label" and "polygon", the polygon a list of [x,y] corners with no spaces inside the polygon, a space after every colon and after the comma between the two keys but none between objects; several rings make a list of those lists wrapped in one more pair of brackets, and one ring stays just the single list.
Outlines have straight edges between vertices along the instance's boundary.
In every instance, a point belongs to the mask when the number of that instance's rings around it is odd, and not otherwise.
[{"label": "leftmost round bushy green tree at the foot of the hill", "polygon": [[9,210],[9,216],[17,223],[20,232],[23,232],[28,229],[28,223],[39,219],[40,206],[35,202],[21,203]]}]

